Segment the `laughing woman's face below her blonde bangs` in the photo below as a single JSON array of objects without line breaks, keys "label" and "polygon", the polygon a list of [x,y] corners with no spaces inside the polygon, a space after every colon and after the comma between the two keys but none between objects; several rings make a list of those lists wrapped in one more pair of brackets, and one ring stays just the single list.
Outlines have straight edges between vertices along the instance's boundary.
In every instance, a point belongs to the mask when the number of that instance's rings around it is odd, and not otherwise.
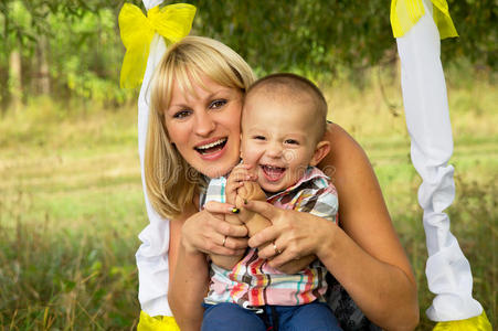
[{"label": "laughing woman's face below her blonde bangs", "polygon": [[170,141],[183,159],[215,178],[239,162],[242,93],[208,76],[201,78],[205,88],[193,84],[194,94],[174,84],[165,122]]}]

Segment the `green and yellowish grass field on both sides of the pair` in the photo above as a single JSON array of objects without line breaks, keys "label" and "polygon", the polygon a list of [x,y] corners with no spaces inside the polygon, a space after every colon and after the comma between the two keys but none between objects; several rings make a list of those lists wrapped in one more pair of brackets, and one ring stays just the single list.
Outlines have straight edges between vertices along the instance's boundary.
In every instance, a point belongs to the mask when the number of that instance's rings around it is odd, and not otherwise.
[{"label": "green and yellowish grass field on both sides of the pair", "polygon": [[[497,325],[498,132],[492,84],[448,84],[457,196],[452,232],[469,259],[474,297]],[[327,90],[330,118],[365,148],[418,282],[421,324],[433,296],[402,109],[378,87]],[[388,85],[390,103],[401,105]],[[398,114],[394,116],[393,114]],[[134,254],[147,224],[133,106],[67,111],[38,100],[0,119],[0,329],[131,330]]]}]

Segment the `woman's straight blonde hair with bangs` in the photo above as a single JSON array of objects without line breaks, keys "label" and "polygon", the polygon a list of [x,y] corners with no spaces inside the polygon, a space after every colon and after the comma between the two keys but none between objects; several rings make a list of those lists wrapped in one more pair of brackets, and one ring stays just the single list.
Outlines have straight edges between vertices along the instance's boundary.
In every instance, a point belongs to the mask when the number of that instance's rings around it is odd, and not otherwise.
[{"label": "woman's straight blonde hair with bangs", "polygon": [[248,64],[225,44],[209,38],[187,36],[171,45],[151,79],[151,105],[145,154],[147,194],[163,217],[177,217],[190,207],[205,186],[204,177],[193,169],[171,145],[165,124],[173,85],[194,94],[193,85],[204,87],[201,76],[239,88],[243,94],[254,82]]}]

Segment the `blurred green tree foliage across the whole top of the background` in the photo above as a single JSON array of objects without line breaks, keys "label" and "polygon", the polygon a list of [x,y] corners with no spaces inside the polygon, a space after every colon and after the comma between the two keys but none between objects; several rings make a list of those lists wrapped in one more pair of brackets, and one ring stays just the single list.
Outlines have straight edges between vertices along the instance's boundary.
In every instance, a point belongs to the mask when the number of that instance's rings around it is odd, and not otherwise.
[{"label": "blurred green tree foliage across the whole top of the background", "polygon": [[[40,93],[40,52],[46,51],[51,95],[118,107],[136,90],[118,87],[125,49],[118,12],[125,0],[4,0],[0,2],[0,82],[9,54],[21,50],[24,100]],[[141,1],[133,2],[144,9]],[[169,4],[173,1],[165,1]],[[174,1],[177,2],[177,1]],[[396,58],[389,1],[186,1],[198,7],[194,34],[219,39],[259,74],[292,71],[330,81],[347,72],[363,84],[364,70]],[[442,43],[445,64],[466,58],[496,71],[497,9],[494,0],[449,0],[460,38]],[[47,45],[43,45],[43,39]],[[0,99],[9,99],[2,88]]]}]

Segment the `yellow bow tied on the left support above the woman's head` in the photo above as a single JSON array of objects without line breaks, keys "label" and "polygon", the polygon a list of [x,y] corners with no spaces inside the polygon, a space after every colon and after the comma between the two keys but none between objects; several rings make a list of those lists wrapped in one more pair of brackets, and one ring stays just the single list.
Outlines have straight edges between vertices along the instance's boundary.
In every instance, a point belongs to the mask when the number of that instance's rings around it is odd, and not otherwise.
[{"label": "yellow bow tied on the left support above the woman's head", "polygon": [[141,10],[125,3],[119,12],[119,30],[126,47],[123,60],[120,86],[133,88],[141,84],[149,57],[150,42],[157,32],[170,43],[176,43],[192,29],[195,7],[188,3],[156,6],[144,15]]}]

